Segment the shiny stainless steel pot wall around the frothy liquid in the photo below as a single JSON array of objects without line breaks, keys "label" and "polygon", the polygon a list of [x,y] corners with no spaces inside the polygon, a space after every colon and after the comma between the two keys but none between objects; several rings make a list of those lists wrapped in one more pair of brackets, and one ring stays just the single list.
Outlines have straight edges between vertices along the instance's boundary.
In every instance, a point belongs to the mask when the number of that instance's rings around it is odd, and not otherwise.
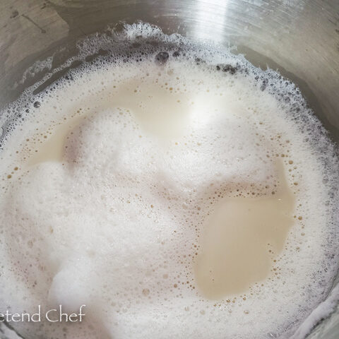
[{"label": "shiny stainless steel pot wall around the frothy liquid", "polygon": [[[0,0],[0,106],[75,54],[78,38],[120,20],[236,45],[297,83],[339,140],[339,0]],[[338,314],[311,338],[338,338]]]}]

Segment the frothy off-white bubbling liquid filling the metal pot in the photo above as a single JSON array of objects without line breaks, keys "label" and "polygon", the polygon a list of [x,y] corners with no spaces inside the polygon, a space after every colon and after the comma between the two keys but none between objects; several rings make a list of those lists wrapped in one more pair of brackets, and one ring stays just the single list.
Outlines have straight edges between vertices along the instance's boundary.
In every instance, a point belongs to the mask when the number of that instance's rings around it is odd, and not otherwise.
[{"label": "frothy off-white bubbling liquid filling the metal pot", "polygon": [[[149,25],[84,40],[81,57],[112,41],[8,108],[25,121],[6,125],[1,153],[1,304],[87,305],[80,324],[18,323],[25,338],[289,338],[338,260],[338,165],[319,121],[278,73]],[[237,229],[208,245],[215,218],[265,199],[267,239]],[[224,240],[263,266],[240,287],[222,271],[213,289],[198,265]],[[251,272],[240,253],[233,272]]]}]

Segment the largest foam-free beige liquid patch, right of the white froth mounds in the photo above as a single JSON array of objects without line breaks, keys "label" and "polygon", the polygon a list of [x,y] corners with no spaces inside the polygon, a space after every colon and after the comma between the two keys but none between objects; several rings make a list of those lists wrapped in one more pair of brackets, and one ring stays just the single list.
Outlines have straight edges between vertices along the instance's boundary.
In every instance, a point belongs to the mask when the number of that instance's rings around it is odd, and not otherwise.
[{"label": "largest foam-free beige liquid patch, right of the white froth mounds", "polygon": [[280,190],[260,198],[224,198],[210,215],[194,263],[198,288],[209,299],[245,292],[272,269],[293,224],[295,198],[278,166]]}]

